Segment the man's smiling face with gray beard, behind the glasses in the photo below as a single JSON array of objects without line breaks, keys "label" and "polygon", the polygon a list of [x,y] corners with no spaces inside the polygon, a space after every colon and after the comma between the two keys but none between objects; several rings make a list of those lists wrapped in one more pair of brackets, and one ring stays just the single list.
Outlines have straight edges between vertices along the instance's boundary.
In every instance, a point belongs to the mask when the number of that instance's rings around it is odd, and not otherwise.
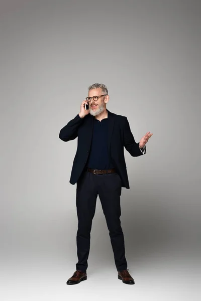
[{"label": "man's smiling face with gray beard, behind the glasses", "polygon": [[[99,95],[103,95],[105,93],[103,93],[101,88],[97,88],[97,89],[91,89],[88,91],[88,96],[89,97],[93,97],[93,96],[99,96]],[[88,103],[89,104],[89,114],[91,114],[92,116],[96,116],[100,113],[102,113],[105,109],[105,100],[106,96],[102,96],[99,97],[96,101],[93,100],[93,98],[91,98],[91,101]]]}]

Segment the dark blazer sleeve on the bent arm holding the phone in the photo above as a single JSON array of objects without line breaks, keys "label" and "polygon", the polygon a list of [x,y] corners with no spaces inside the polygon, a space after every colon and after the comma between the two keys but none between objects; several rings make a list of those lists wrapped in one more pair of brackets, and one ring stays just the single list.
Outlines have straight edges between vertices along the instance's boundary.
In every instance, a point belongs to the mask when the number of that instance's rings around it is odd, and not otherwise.
[{"label": "dark blazer sleeve on the bent arm holding the phone", "polygon": [[70,120],[59,132],[59,138],[63,141],[74,140],[78,135],[78,128],[82,124],[84,118],[79,114]]}]

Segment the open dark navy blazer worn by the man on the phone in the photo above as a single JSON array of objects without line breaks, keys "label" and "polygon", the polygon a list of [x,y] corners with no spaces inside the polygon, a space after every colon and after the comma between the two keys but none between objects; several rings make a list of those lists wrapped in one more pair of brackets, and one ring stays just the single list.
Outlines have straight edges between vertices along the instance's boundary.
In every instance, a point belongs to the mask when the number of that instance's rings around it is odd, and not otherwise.
[{"label": "open dark navy blazer worn by the man on the phone", "polygon": [[[108,109],[108,150],[112,162],[122,180],[122,187],[130,188],[126,162],[124,158],[124,146],[133,157],[142,156],[139,142],[136,143],[131,132],[127,117],[117,115]],[[63,141],[73,140],[78,137],[77,151],[73,160],[70,176],[70,184],[75,184],[88,159],[90,144],[93,132],[93,119],[90,114],[80,118],[79,114],[70,120],[59,133],[59,138]],[[146,154],[146,147],[145,152]]]}]

